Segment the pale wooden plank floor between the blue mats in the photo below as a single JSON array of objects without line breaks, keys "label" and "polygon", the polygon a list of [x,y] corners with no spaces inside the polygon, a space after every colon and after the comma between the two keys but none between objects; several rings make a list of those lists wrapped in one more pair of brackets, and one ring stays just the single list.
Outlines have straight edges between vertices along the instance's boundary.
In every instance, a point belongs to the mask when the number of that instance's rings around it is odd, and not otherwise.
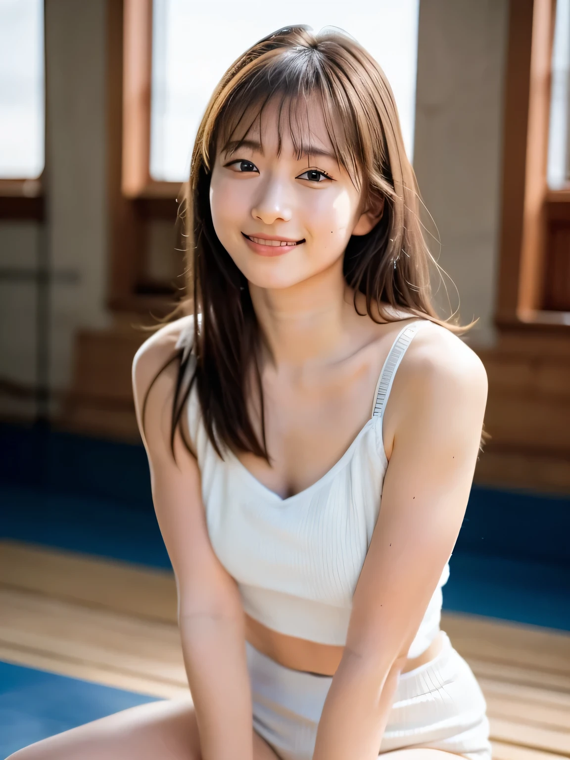
[{"label": "pale wooden plank floor between the blue mats", "polygon": [[[485,693],[496,760],[570,756],[570,635],[466,615],[442,628]],[[0,660],[188,696],[169,572],[0,542]]]}]

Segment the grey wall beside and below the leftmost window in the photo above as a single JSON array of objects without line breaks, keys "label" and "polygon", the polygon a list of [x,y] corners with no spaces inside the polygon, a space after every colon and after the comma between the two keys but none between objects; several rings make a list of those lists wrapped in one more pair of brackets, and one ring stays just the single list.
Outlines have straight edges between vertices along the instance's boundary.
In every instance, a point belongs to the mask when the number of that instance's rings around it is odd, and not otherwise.
[{"label": "grey wall beside and below the leftmost window", "polygon": [[[106,313],[106,0],[46,0],[45,244],[52,262],[49,316],[52,388],[68,385],[72,340]],[[40,226],[0,222],[0,378],[36,382],[36,283]],[[14,280],[14,271],[19,275]],[[33,414],[30,398],[0,388],[0,413]]]}]

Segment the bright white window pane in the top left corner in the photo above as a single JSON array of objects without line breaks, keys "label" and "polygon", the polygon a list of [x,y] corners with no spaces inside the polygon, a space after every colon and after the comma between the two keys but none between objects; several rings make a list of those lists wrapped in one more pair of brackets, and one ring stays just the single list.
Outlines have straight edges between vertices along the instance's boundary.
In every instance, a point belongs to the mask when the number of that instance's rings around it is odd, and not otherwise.
[{"label": "bright white window pane in the top left corner", "polygon": [[0,178],[44,163],[43,0],[0,0]]}]

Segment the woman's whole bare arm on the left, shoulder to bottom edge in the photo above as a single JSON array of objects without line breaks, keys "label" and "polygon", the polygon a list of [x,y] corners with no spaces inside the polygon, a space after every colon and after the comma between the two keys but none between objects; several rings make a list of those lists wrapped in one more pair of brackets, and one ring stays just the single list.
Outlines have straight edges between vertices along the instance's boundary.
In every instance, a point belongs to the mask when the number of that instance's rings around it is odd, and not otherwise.
[{"label": "woman's whole bare arm on the left, shoulder to bottom edge", "polygon": [[[203,760],[252,760],[252,700],[245,662],[239,592],[218,561],[207,534],[198,464],[176,434],[169,445],[177,363],[144,395],[173,356],[180,325],[163,328],[135,356],[133,387],[138,425],[150,464],[154,508],[178,588],[178,619]],[[178,325],[178,327],[176,327]]]}]

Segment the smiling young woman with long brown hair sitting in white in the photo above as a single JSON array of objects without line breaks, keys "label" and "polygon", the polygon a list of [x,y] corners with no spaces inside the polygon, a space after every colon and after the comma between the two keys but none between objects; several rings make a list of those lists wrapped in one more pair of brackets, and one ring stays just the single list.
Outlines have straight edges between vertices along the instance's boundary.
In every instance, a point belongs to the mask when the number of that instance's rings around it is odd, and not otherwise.
[{"label": "smiling young woman with long brown hair sitting in white", "polygon": [[192,158],[193,314],[133,372],[193,705],[19,760],[489,760],[439,630],[486,375],[436,318],[418,206],[352,39],[282,29],[227,71]]}]

